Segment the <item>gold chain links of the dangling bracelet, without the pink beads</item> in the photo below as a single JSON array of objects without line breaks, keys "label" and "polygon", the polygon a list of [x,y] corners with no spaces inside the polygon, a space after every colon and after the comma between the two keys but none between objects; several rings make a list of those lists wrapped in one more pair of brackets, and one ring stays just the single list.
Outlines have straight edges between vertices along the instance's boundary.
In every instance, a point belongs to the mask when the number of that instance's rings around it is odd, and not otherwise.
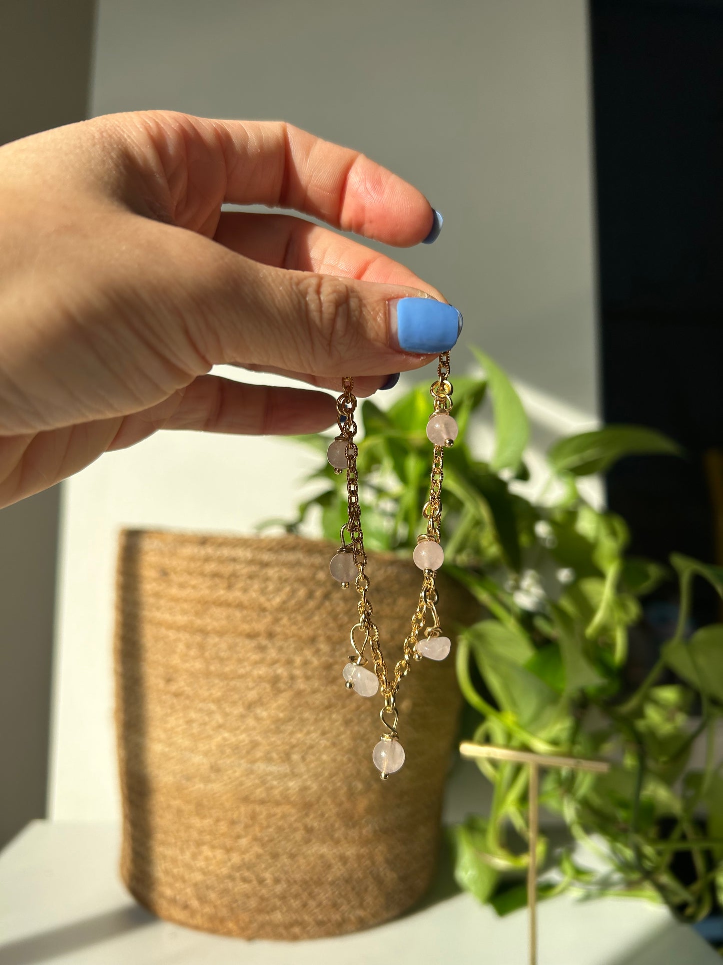
[{"label": "gold chain links of the dangling bracelet, without the pink beads", "polygon": [[[440,363],[437,368],[437,379],[432,383],[430,395],[434,400],[434,411],[432,416],[437,413],[448,413],[452,407],[452,386],[449,382],[449,352],[443,352],[440,356]],[[410,671],[412,660],[421,659],[421,655],[416,652],[415,647],[419,639],[419,634],[425,632],[427,637],[440,635],[441,628],[437,614],[438,594],[435,585],[435,572],[432,569],[424,569],[422,577],[422,587],[419,593],[415,614],[412,617],[409,635],[405,638],[403,655],[394,666],[393,672],[389,673],[387,661],[384,658],[382,648],[379,643],[379,628],[373,620],[373,609],[368,597],[369,579],[366,576],[366,553],[364,551],[364,539],[362,533],[362,509],[359,500],[359,474],[357,471],[357,457],[359,448],[356,444],[355,436],[358,431],[354,420],[357,409],[357,399],[354,395],[354,379],[345,376],[342,380],[343,392],[336,400],[337,422],[339,427],[338,439],[346,442],[346,489],[347,489],[347,522],[342,527],[342,549],[344,548],[344,531],[350,540],[350,546],[354,554],[354,563],[359,570],[355,580],[355,587],[359,593],[357,609],[359,612],[359,622],[354,626],[351,633],[351,642],[356,651],[357,658],[354,662],[357,665],[366,664],[364,655],[366,646],[371,650],[374,664],[374,672],[379,680],[384,706],[380,716],[389,733],[396,737],[396,696],[402,677],[407,676]],[[430,416],[430,418],[432,418]],[[451,445],[447,440],[446,445]],[[442,479],[444,445],[434,446],[434,457],[432,460],[432,473],[430,477],[429,499],[422,510],[424,518],[427,520],[427,531],[424,536],[420,536],[417,542],[432,540],[440,542],[440,522],[442,520]],[[427,625],[427,614],[431,613],[433,623]],[[354,631],[359,630],[363,634],[363,642],[358,647],[354,639]],[[350,658],[352,659],[352,658]],[[393,724],[389,724],[386,716],[393,715]],[[382,774],[386,777],[386,774]]]}]

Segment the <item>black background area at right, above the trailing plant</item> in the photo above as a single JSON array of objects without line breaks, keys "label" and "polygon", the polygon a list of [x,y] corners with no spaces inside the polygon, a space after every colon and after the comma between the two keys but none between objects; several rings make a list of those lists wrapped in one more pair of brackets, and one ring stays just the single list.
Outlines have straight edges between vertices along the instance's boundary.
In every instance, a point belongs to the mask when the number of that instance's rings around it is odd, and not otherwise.
[{"label": "black background area at right, above the trailing plant", "polygon": [[593,0],[591,28],[604,421],[686,451],[625,460],[609,506],[633,553],[723,564],[723,2]]}]

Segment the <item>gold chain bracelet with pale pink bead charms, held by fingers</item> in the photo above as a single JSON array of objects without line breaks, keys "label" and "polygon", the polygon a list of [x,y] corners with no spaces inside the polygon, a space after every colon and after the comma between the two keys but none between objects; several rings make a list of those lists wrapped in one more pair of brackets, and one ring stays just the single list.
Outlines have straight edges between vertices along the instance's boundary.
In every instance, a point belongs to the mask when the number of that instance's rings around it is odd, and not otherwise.
[{"label": "gold chain bracelet with pale pink bead charms, held by fingers", "polygon": [[[452,385],[449,382],[449,352],[442,352],[437,369],[437,380],[432,383],[430,395],[434,399],[434,409],[427,423],[427,438],[434,446],[429,499],[422,514],[427,521],[426,533],[416,539],[414,551],[415,565],[422,570],[422,587],[409,636],[404,641],[403,655],[389,672],[387,662],[379,643],[379,629],[373,620],[372,605],[368,597],[369,579],[366,575],[366,553],[362,533],[362,508],[359,502],[359,475],[357,456],[359,449],[354,437],[357,424],[354,413],[357,400],[354,396],[354,379],[346,376],[342,380],[343,393],[336,400],[339,434],[329,447],[327,458],[336,473],[346,470],[346,489],[348,518],[341,527],[341,547],[329,565],[332,576],[342,587],[354,583],[359,593],[357,610],[359,620],[354,624],[349,640],[353,649],[349,662],[343,669],[343,677],[349,690],[356,691],[361,697],[374,697],[381,689],[384,704],[379,716],[385,728],[379,743],[375,746],[372,759],[379,769],[383,780],[398,771],[404,763],[404,748],[399,743],[397,722],[399,714],[396,697],[402,678],[409,674],[413,660],[423,656],[431,660],[443,660],[449,653],[451,642],[442,636],[437,613],[437,587],[435,577],[444,560],[440,546],[440,522],[442,520],[442,477],[444,448],[451,446],[457,438],[457,423],[449,414],[452,408]],[[347,539],[349,540],[347,542]],[[428,615],[431,622],[428,622]],[[421,635],[421,637],[420,637]],[[374,670],[367,669],[371,653]]]}]

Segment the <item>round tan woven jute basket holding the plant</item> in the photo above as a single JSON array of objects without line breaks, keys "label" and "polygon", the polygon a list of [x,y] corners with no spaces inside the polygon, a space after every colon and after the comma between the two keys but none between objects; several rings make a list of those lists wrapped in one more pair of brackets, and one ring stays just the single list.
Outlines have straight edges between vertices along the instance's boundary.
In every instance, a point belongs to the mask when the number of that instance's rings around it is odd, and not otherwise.
[{"label": "round tan woven jute basket holding the plant", "polygon": [[[431,882],[460,707],[453,657],[403,681],[407,760],[380,781],[381,701],[341,676],[357,596],[330,577],[334,551],[121,536],[121,875],[162,918],[245,938],[335,935],[400,914]],[[377,554],[368,572],[393,666],[421,574]],[[438,585],[442,615],[469,619],[464,591]]]}]

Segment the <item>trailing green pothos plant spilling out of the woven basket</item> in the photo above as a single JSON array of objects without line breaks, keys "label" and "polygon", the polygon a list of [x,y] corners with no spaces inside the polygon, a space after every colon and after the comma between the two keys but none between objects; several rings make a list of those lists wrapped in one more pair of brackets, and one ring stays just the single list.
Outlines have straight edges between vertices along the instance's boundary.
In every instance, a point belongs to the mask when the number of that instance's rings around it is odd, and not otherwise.
[{"label": "trailing green pothos plant spilling out of the woven basket", "polygon": [[[604,473],[632,454],[680,455],[651,429],[608,426],[560,439],[549,449],[549,485],[523,495],[529,427],[521,400],[492,359],[476,352],[484,378],[457,377],[459,436],[444,458],[444,569],[481,604],[482,619],[460,628],[457,676],[466,736],[476,741],[578,758],[605,758],[609,773],[550,770],[541,804],[562,815],[570,843],[543,836],[548,869],[539,897],[576,889],[589,895],[665,902],[686,921],[723,898],[723,771],[715,725],[723,714],[723,625],[690,632],[693,581],[723,596],[723,568],[681,555],[670,568],[631,558],[618,515],[595,509],[580,477]],[[480,458],[470,421],[488,400],[494,453]],[[359,442],[364,538],[370,549],[409,554],[428,486],[428,389],[415,388],[388,411],[362,403]],[[328,440],[303,437],[323,449]],[[297,530],[313,507],[325,536],[346,520],[343,477],[323,465],[320,491],[287,525]],[[626,675],[629,630],[641,597],[664,580],[680,586],[678,623],[648,676]],[[702,766],[691,750],[703,742]],[[458,883],[502,914],[524,903],[527,769],[479,761],[493,785],[489,813],[451,829]],[[575,841],[597,853],[597,870],[575,857]],[[681,872],[681,853],[689,858]],[[684,863],[683,863],[684,864]],[[721,902],[723,903],[723,901]]]}]

